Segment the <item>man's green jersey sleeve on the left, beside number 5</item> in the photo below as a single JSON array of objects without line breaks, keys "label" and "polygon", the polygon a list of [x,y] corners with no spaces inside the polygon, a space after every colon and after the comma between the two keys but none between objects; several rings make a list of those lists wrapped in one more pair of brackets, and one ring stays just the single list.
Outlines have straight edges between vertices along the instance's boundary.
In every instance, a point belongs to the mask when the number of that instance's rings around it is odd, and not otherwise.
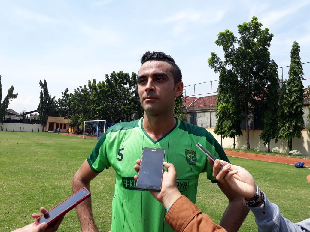
[{"label": "man's green jersey sleeve on the left, beside number 5", "polygon": [[111,166],[107,156],[107,143],[109,137],[108,134],[109,131],[107,131],[106,133],[104,133],[104,135],[101,136],[93,151],[87,157],[87,161],[91,167],[91,170],[96,173],[100,173],[105,168],[108,169]]}]

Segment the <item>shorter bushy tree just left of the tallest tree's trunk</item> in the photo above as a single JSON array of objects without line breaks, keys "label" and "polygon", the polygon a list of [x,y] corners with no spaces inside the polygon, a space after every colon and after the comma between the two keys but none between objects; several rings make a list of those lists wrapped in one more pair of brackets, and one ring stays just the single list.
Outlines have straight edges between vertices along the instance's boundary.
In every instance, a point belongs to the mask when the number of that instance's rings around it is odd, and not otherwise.
[{"label": "shorter bushy tree just left of the tallest tree's trunk", "polygon": [[233,148],[236,148],[235,136],[242,135],[240,127],[242,107],[238,100],[239,94],[236,91],[229,91],[231,88],[236,88],[237,83],[237,76],[231,70],[223,68],[220,71],[215,111],[217,122],[214,132],[221,135],[221,146],[223,146],[223,138],[233,138]]}]

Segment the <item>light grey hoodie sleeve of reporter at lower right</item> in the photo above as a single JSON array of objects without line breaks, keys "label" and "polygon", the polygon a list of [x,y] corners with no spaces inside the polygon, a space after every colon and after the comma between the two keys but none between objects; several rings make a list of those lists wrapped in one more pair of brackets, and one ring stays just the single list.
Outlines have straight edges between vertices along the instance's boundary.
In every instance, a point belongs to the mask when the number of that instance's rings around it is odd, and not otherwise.
[{"label": "light grey hoodie sleeve of reporter at lower right", "polygon": [[[255,222],[258,226],[259,232],[310,232],[310,218],[298,223],[293,223],[290,220],[282,217],[280,214],[280,208],[276,204],[271,203],[265,193],[264,195],[264,204],[255,208],[248,207],[255,216]],[[265,214],[263,213],[263,209],[265,210]]]}]

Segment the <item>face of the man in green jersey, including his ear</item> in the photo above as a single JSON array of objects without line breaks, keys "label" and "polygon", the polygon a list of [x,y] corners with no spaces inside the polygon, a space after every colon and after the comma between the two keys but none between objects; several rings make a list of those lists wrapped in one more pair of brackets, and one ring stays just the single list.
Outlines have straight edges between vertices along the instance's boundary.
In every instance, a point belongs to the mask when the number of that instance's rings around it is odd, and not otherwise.
[{"label": "face of the man in green jersey, including his ear", "polygon": [[183,91],[183,82],[174,84],[171,65],[164,61],[148,61],[138,72],[138,92],[147,114],[158,115],[173,111],[175,97]]}]

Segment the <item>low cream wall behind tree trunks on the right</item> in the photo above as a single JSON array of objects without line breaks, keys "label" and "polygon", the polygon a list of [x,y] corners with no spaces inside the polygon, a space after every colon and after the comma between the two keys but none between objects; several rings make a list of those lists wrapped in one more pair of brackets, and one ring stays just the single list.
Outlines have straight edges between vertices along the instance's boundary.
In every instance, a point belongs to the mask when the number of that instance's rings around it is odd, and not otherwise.
[{"label": "low cream wall behind tree trunks on the right", "polygon": [[[218,136],[214,133],[214,128],[206,128],[207,131],[209,131],[219,142],[221,143],[221,136]],[[236,137],[236,148],[240,149],[242,145],[246,145],[246,131],[241,130],[243,135]],[[259,148],[260,151],[267,151],[267,145],[264,146],[264,143],[262,140],[259,139],[259,134],[262,132],[262,130],[250,130],[250,148]],[[304,156],[310,156],[310,135],[308,133],[308,130],[302,130],[301,131],[301,138],[297,139],[294,138],[292,141],[293,144],[293,150],[298,150],[302,155]],[[223,139],[223,147],[227,148],[228,146],[233,147],[233,139],[231,138],[225,138]],[[276,143],[275,140],[272,140],[270,142],[270,150],[272,148],[278,147],[280,148],[282,153],[288,153],[288,145],[286,140],[279,139]]]}]

